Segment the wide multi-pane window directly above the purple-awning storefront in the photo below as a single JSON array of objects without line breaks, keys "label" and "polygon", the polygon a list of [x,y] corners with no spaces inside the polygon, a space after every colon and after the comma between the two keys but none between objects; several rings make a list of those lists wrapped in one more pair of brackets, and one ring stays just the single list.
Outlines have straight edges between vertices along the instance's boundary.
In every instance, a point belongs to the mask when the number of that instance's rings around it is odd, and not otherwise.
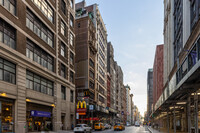
[{"label": "wide multi-pane window directly above the purple-awning storefront", "polygon": [[53,96],[53,82],[26,71],[26,88]]}]

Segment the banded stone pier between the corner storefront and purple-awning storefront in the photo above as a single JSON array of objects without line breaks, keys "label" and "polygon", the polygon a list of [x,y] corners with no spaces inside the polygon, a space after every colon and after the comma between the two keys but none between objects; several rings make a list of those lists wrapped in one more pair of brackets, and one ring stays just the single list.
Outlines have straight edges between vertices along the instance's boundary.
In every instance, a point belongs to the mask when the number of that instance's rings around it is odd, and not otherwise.
[{"label": "banded stone pier between the corner storefront and purple-awning storefront", "polygon": [[26,132],[26,68],[17,65],[16,133]]}]

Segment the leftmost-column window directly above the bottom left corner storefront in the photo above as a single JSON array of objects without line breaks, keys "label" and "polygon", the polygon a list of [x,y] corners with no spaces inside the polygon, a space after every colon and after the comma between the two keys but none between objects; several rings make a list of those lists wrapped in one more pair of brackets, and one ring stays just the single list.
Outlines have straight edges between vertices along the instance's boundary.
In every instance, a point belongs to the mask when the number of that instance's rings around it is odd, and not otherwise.
[{"label": "leftmost-column window directly above the bottom left corner storefront", "polygon": [[15,84],[16,66],[15,64],[0,58],[0,80]]}]

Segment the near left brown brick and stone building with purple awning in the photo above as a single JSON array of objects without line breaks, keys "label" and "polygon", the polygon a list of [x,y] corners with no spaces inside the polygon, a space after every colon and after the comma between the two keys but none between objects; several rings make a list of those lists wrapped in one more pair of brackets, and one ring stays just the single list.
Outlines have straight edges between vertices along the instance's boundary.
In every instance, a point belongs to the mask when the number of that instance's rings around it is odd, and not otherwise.
[{"label": "near left brown brick and stone building with purple awning", "polygon": [[0,1],[0,132],[71,129],[74,16],[73,0]]}]

